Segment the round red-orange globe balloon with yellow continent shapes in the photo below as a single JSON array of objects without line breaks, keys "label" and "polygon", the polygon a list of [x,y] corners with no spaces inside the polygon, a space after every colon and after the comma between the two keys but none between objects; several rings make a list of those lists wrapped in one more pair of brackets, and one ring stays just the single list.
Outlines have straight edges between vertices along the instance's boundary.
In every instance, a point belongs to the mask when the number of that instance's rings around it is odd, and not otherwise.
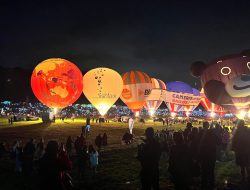
[{"label": "round red-orange globe balloon with yellow continent shapes", "polygon": [[31,88],[41,103],[50,108],[64,108],[81,96],[82,72],[65,59],[47,59],[35,67]]}]

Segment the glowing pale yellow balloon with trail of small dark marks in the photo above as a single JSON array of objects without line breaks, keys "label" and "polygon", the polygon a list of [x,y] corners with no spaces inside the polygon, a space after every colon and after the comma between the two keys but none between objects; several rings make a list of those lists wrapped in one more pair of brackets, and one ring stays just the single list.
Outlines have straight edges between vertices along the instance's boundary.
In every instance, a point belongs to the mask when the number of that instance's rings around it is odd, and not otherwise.
[{"label": "glowing pale yellow balloon with trail of small dark marks", "polygon": [[123,81],[119,73],[109,68],[96,68],[83,77],[83,93],[103,116],[120,97]]}]

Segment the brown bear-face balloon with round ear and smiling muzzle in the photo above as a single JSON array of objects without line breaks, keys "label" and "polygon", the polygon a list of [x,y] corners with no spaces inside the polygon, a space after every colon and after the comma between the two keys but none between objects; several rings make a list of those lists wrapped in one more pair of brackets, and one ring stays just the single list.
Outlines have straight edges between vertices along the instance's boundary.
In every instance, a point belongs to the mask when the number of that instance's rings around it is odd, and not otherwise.
[{"label": "brown bear-face balloon with round ear and smiling muzzle", "polygon": [[215,104],[250,107],[250,52],[217,58],[209,64],[195,62],[194,76],[201,78],[206,97]]}]

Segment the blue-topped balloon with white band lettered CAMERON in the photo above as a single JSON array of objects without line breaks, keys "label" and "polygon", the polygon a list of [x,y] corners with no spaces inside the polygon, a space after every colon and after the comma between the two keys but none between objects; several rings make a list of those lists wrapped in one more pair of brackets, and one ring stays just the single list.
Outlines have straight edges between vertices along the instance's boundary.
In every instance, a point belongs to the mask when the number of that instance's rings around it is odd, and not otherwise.
[{"label": "blue-topped balloon with white band lettered CAMERON", "polygon": [[183,109],[184,105],[189,105],[193,97],[193,89],[181,81],[168,82],[166,87],[167,96],[165,102],[171,115],[175,115]]}]

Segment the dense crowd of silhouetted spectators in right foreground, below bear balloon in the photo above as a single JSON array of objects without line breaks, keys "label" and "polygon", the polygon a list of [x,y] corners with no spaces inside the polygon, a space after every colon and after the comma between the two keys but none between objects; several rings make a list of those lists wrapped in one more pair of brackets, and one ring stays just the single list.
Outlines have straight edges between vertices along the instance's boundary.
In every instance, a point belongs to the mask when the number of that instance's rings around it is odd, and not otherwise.
[{"label": "dense crowd of silhouetted spectators in right foreground, below bear balloon", "polygon": [[242,182],[250,183],[249,145],[250,130],[242,120],[230,129],[208,122],[199,128],[187,123],[183,131],[154,133],[153,128],[148,128],[145,143],[138,146],[142,189],[159,189],[160,155],[167,157],[175,189],[214,189],[215,163],[227,161],[230,149],[235,152],[236,164],[241,168]]}]

